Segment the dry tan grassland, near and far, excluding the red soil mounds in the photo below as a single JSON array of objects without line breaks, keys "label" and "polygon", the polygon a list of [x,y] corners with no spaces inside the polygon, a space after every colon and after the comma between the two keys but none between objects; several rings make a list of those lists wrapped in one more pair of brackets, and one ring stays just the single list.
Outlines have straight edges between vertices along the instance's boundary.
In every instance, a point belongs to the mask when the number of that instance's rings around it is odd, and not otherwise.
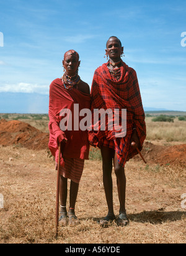
[{"label": "dry tan grassland, near and far, excluding the red soil mounds", "polygon": [[[5,115],[5,114],[2,114]],[[7,121],[29,122],[44,132],[47,115],[8,114]],[[21,117],[21,118],[20,118]],[[23,118],[24,117],[24,118]],[[26,118],[27,117],[27,118]],[[185,143],[186,122],[152,122],[146,118],[147,140],[157,145]],[[184,152],[185,153],[185,152]],[[76,214],[80,224],[60,228],[55,237],[55,162],[48,150],[28,150],[0,145],[1,244],[181,244],[186,242],[186,211],[181,196],[186,193],[185,167],[145,165],[140,159],[126,163],[126,211],[130,226],[115,223],[104,229],[97,220],[107,214],[100,152],[91,150],[79,186]],[[113,201],[118,216],[115,175]],[[68,204],[67,204],[68,205]]]}]

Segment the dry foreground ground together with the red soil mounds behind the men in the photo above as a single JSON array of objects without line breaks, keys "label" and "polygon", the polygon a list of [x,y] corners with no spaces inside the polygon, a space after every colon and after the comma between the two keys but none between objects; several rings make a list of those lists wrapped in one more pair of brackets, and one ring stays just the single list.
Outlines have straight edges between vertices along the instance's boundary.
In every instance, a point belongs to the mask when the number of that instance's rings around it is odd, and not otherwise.
[{"label": "dry foreground ground together with the red soil mounds behind the men", "polygon": [[[27,146],[29,145],[29,147]],[[76,214],[80,224],[60,228],[55,237],[55,162],[48,134],[20,121],[0,121],[1,244],[180,244],[186,242],[186,145],[146,141],[147,164],[134,157],[126,163],[126,210],[130,226],[102,228],[107,214],[102,163],[87,160],[79,186]],[[113,174],[113,200],[119,202]]]}]

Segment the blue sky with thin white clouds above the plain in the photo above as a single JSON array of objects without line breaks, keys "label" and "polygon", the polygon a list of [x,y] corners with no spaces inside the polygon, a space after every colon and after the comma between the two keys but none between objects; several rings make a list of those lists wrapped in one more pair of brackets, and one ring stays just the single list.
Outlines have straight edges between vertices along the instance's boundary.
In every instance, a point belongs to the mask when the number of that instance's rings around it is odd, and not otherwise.
[{"label": "blue sky with thin white clouds above the plain", "polygon": [[79,75],[91,87],[106,62],[105,43],[116,35],[123,61],[138,75],[143,106],[186,111],[185,11],[183,0],[1,0],[0,94],[48,95],[69,49],[79,53]]}]

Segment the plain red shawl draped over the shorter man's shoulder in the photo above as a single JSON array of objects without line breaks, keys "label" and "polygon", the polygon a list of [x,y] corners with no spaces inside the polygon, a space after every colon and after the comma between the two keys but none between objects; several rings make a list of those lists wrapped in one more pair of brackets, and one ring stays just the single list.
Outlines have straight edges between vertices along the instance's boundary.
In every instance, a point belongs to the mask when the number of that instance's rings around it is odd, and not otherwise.
[{"label": "plain red shawl draped over the shorter man's shoulder", "polygon": [[[49,96],[49,118],[48,124],[50,131],[50,140],[48,147],[58,162],[58,145],[62,141],[64,144],[63,157],[64,158],[80,158],[89,159],[89,141],[87,137],[87,130],[66,130],[60,129],[60,121],[63,117],[60,116],[62,109],[70,109],[72,116],[74,115],[74,104],[79,104],[79,112],[81,109],[91,107],[91,96],[82,93],[78,89],[65,89],[60,78],[54,80],[50,85]],[[82,117],[79,117],[79,120]],[[74,119],[74,116],[73,116]],[[61,166],[63,166],[63,158],[61,159]]]}]

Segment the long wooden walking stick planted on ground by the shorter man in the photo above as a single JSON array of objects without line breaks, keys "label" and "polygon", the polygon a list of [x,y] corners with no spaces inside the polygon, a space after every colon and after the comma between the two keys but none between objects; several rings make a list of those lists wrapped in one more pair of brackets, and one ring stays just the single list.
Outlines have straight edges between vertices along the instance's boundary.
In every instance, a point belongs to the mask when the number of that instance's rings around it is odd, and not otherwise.
[{"label": "long wooden walking stick planted on ground by the shorter man", "polygon": [[58,236],[59,226],[59,199],[60,199],[60,158],[61,158],[61,143],[59,145],[58,153],[58,173],[57,173],[57,184],[56,184],[56,237]]}]

